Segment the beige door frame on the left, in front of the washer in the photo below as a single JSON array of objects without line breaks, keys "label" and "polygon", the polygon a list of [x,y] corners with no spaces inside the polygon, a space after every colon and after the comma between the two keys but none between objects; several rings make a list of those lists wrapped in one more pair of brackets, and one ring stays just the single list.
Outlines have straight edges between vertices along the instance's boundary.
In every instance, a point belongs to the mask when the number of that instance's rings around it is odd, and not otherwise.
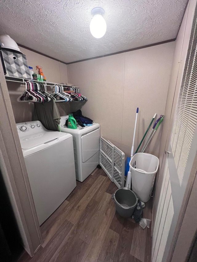
[{"label": "beige door frame on the left, in front of the washer", "polygon": [[30,256],[43,244],[7,84],[0,63],[0,168],[22,238]]}]

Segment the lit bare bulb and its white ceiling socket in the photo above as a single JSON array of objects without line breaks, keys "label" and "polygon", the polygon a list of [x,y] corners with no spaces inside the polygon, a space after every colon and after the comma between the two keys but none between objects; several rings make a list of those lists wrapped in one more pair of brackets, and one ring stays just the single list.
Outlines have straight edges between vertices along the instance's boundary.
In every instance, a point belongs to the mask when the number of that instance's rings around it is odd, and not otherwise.
[{"label": "lit bare bulb and its white ceiling socket", "polygon": [[101,38],[104,36],[107,29],[105,19],[103,18],[105,11],[101,7],[95,7],[92,9],[91,14],[93,18],[90,22],[90,32],[93,37]]}]

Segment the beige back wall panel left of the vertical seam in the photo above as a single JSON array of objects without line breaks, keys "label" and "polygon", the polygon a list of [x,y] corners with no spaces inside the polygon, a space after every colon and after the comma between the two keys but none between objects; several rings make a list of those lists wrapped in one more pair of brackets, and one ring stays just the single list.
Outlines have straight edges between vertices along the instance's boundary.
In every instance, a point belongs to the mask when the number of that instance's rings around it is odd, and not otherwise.
[{"label": "beige back wall panel left of the vertical seam", "polygon": [[[99,123],[102,135],[118,147],[122,130],[123,66],[124,54],[68,65],[69,81],[88,98],[82,114]],[[71,108],[78,109],[78,104],[72,104]]]}]

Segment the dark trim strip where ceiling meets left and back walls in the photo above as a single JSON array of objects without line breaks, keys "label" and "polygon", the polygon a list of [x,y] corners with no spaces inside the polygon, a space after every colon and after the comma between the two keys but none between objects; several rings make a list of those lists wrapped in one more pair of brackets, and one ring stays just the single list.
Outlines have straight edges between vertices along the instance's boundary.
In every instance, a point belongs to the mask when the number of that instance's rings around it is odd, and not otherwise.
[{"label": "dark trim strip where ceiling meets left and back walls", "polygon": [[78,62],[83,62],[83,61],[88,61],[88,60],[97,59],[97,58],[101,58],[101,57],[108,57],[108,56],[113,56],[113,55],[117,55],[117,54],[121,54],[121,53],[126,53],[126,52],[130,52],[130,51],[138,50],[138,49],[143,49],[143,48],[151,47],[151,46],[154,46],[154,45],[162,45],[162,44],[165,44],[165,43],[173,42],[173,41],[175,41],[175,40],[176,40],[176,38],[170,39],[170,40],[166,40],[166,41],[162,41],[162,42],[158,42],[158,43],[155,43],[155,44],[143,45],[143,46],[140,46],[140,47],[127,49],[127,50],[119,51],[119,52],[116,52],[116,53],[111,53],[111,54],[107,54],[107,55],[103,55],[103,56],[98,56],[98,57],[86,58],[86,59],[82,59],[82,60],[78,60],[78,61],[74,61],[74,62],[69,62],[69,63],[66,63],[66,62],[63,62],[63,61],[61,61],[61,60],[59,60],[59,59],[56,59],[56,58],[54,58],[54,57],[50,57],[50,56],[48,56],[48,55],[45,55],[45,54],[43,54],[43,53],[41,53],[41,52],[38,52],[38,51],[36,51],[36,50],[34,50],[34,49],[31,49],[31,48],[29,48],[29,47],[27,47],[27,46],[25,46],[25,45],[20,45],[20,44],[18,44],[18,43],[17,43],[17,45],[20,46],[20,47],[23,47],[23,48],[25,48],[25,49],[28,49],[28,50],[30,50],[30,51],[32,51],[32,52],[35,52],[35,53],[37,53],[37,54],[40,54],[40,55],[42,55],[42,56],[45,56],[45,57],[48,57],[48,58],[53,59],[53,60],[55,60],[55,61],[58,61],[58,62],[60,62],[60,63],[63,63],[63,64],[65,64],[65,65],[70,65],[70,64],[74,64],[74,63],[78,63]]}]

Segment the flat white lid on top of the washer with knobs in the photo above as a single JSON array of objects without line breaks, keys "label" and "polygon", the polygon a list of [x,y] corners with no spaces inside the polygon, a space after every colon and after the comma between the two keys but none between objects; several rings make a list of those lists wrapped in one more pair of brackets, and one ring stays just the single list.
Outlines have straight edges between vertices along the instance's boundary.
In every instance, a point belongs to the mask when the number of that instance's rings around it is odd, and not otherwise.
[{"label": "flat white lid on top of the washer with knobs", "polygon": [[67,139],[70,137],[70,134],[65,134],[58,131],[40,131],[31,135],[25,135],[20,138],[21,147],[23,150],[32,147],[38,147],[41,144],[48,143],[62,136],[64,136],[64,139]]}]

